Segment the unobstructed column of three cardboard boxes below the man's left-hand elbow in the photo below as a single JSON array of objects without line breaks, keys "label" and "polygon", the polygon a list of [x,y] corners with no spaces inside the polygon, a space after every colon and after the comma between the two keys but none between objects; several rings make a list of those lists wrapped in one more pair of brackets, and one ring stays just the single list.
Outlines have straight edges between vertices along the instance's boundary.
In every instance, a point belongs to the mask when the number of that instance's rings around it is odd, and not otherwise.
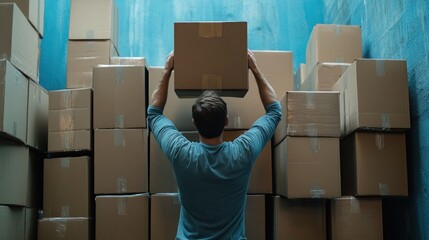
[{"label": "unobstructed column of three cardboard boxes below the man's left-hand elbow", "polygon": [[125,64],[94,68],[97,239],[149,239],[148,71]]}]

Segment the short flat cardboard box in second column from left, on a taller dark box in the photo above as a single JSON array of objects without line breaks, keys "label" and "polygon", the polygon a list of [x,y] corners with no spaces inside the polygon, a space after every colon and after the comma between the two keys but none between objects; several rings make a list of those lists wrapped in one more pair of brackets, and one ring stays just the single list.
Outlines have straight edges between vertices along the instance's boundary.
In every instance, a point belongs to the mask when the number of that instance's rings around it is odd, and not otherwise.
[{"label": "short flat cardboard box in second column from left, on a taller dark box", "polygon": [[92,150],[92,130],[73,130],[48,133],[48,152]]}]

